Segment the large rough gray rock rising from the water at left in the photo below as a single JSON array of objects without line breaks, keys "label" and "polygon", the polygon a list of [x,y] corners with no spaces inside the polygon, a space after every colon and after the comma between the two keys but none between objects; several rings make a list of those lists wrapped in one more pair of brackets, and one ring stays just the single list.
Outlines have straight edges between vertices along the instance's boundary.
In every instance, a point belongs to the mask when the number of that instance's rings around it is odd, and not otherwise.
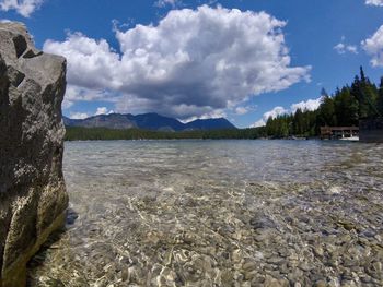
[{"label": "large rough gray rock rising from the water at left", "polygon": [[65,220],[65,89],[66,60],[0,23],[0,287],[25,285],[26,262]]}]

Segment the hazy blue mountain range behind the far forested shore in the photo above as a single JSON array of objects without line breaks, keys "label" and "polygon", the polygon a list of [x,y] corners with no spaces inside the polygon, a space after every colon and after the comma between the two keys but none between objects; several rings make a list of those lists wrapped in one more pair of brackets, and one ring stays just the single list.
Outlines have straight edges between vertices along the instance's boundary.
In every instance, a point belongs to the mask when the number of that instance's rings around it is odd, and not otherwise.
[{"label": "hazy blue mountain range behind the far forested shore", "polygon": [[224,118],[195,120],[187,123],[163,117],[161,115],[151,112],[142,115],[100,115],[86,119],[69,119],[63,117],[63,124],[66,127],[82,127],[82,128],[107,128],[115,130],[124,129],[141,129],[150,131],[192,131],[192,130],[223,130],[236,129],[230,121]]}]

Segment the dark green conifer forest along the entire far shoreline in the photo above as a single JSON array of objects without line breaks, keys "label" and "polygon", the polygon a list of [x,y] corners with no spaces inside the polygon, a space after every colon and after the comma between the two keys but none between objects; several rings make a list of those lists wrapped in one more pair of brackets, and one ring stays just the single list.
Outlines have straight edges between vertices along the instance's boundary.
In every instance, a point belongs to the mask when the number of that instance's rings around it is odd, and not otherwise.
[{"label": "dark green conifer forest along the entire far shoreline", "polygon": [[288,139],[316,137],[321,127],[358,127],[360,119],[375,119],[383,116],[383,77],[379,86],[364,75],[360,68],[350,85],[337,88],[329,95],[321,92],[318,109],[301,110],[294,113],[269,118],[266,127],[252,129],[229,129],[214,131],[160,132],[138,129],[111,130],[103,128],[69,128],[66,140],[181,140],[181,139]]}]

